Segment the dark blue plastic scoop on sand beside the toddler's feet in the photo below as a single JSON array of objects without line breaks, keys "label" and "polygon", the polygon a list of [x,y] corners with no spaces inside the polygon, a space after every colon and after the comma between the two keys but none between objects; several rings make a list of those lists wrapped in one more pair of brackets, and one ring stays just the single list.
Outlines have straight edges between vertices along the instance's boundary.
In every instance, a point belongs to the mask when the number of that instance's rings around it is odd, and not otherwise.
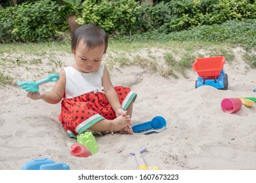
[{"label": "dark blue plastic scoop on sand beside the toddler's feet", "polygon": [[132,128],[134,133],[159,133],[166,129],[166,121],[163,117],[156,116],[151,121],[133,125]]}]

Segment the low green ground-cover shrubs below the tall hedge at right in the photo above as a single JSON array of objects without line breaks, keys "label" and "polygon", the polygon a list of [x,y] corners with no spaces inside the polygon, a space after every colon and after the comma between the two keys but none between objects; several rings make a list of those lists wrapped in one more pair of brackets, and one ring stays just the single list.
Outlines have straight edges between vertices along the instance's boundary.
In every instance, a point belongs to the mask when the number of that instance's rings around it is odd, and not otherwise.
[{"label": "low green ground-cover shrubs below the tall hedge at right", "polygon": [[202,25],[194,29],[172,32],[167,39],[176,41],[215,41],[242,44],[244,48],[256,50],[256,20],[247,19],[244,22],[230,20],[223,24]]}]

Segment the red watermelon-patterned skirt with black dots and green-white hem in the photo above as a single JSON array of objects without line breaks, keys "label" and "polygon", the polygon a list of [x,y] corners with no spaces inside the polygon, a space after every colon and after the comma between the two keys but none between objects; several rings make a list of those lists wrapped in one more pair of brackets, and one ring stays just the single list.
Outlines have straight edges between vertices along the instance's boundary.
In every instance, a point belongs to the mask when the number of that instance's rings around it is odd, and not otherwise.
[{"label": "red watermelon-patterned skirt with black dots and green-white hem", "polygon": [[[115,90],[123,110],[135,101],[137,94],[129,88],[116,86]],[[59,120],[70,137],[83,133],[100,120],[114,120],[116,112],[102,92],[89,92],[72,99],[62,99]]]}]

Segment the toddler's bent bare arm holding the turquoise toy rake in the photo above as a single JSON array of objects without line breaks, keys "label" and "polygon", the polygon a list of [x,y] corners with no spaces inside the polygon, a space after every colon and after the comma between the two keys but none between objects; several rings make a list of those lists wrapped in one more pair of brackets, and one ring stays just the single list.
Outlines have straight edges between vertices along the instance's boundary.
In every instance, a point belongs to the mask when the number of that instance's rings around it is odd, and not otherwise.
[{"label": "toddler's bent bare arm holding the turquoise toy rake", "polygon": [[33,100],[43,99],[47,103],[55,104],[61,101],[66,85],[66,74],[64,69],[62,69],[59,73],[60,78],[56,81],[53,90],[51,92],[28,92],[28,97]]}]

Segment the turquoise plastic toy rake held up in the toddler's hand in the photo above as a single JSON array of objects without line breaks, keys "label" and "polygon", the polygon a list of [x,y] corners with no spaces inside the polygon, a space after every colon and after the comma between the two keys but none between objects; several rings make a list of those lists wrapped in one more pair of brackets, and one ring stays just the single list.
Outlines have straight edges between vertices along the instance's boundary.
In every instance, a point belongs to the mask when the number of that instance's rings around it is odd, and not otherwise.
[{"label": "turquoise plastic toy rake held up in the toddler's hand", "polygon": [[58,74],[51,74],[47,78],[44,78],[43,80],[39,80],[37,82],[33,81],[26,81],[26,82],[20,82],[18,80],[18,86],[26,90],[26,92],[38,92],[39,85],[45,84],[47,82],[56,82],[60,78],[60,75]]}]

